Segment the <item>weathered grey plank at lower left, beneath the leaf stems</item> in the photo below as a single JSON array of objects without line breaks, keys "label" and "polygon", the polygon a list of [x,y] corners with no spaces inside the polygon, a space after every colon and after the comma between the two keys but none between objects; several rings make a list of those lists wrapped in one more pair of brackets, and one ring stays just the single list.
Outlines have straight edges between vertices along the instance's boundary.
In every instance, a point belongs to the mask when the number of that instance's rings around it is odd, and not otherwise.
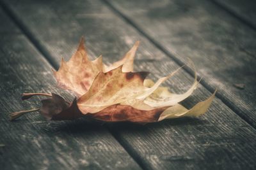
[{"label": "weathered grey plank at lower left, beneath the leaf stems", "polygon": [[140,169],[101,125],[84,119],[47,122],[38,113],[8,120],[8,113],[40,105],[38,98],[22,102],[21,92],[63,92],[47,60],[1,8],[0,22],[1,169]]}]

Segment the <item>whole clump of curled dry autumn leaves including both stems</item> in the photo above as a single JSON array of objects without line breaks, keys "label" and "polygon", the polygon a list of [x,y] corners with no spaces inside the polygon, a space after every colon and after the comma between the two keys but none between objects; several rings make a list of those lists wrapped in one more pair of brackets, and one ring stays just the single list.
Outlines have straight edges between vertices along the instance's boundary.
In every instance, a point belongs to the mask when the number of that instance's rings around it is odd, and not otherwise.
[{"label": "whole clump of curled dry autumn leaves including both stems", "polygon": [[[107,66],[102,56],[90,60],[81,38],[79,46],[67,62],[61,60],[58,71],[53,71],[58,87],[75,92],[77,99],[67,102],[58,94],[26,93],[22,100],[32,96],[46,96],[42,108],[11,114],[11,120],[24,113],[40,110],[48,120],[72,120],[82,116],[105,122],[159,122],[167,118],[197,117],[209,108],[216,91],[205,101],[186,109],[179,104],[188,98],[198,85],[195,80],[184,94],[174,94],[167,87],[160,87],[176,71],[154,81],[148,72],[133,72],[133,62],[140,42],[137,41],[122,59]],[[193,66],[193,62],[191,62]],[[193,66],[195,71],[195,66]]]}]

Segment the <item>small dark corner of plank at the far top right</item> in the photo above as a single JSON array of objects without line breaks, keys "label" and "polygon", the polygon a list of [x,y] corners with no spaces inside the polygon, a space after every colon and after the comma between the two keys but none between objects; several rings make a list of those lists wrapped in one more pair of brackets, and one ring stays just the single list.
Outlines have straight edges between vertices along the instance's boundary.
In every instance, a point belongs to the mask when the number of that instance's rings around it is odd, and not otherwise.
[{"label": "small dark corner of plank at the far top right", "polygon": [[256,1],[253,0],[212,0],[230,14],[242,20],[249,26],[256,29]]}]

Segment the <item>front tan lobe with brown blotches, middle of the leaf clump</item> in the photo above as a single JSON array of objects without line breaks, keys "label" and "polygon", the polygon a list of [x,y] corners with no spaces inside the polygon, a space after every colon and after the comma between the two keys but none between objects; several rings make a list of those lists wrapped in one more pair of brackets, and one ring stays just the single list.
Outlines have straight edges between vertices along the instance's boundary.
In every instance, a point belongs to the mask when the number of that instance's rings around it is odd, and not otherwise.
[{"label": "front tan lobe with brown blotches, middle of the leaf clump", "polygon": [[122,72],[122,66],[108,73],[100,72],[93,80],[88,92],[78,99],[78,108],[83,114],[96,113],[113,104],[129,105],[139,110],[148,110],[146,109],[147,106],[145,108],[146,104],[141,105],[141,101],[152,94],[164,80],[173,76],[177,71],[160,78],[150,88],[143,85],[148,72],[124,73]]}]

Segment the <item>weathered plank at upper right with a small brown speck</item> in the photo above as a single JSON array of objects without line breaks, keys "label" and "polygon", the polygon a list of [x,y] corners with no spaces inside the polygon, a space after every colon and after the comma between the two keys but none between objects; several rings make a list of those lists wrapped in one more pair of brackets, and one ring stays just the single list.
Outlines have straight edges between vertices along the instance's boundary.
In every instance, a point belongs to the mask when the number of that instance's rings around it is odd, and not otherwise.
[{"label": "weathered plank at upper right with a small brown speck", "polygon": [[255,30],[204,0],[109,2],[180,65],[192,59],[204,86],[256,127]]}]

